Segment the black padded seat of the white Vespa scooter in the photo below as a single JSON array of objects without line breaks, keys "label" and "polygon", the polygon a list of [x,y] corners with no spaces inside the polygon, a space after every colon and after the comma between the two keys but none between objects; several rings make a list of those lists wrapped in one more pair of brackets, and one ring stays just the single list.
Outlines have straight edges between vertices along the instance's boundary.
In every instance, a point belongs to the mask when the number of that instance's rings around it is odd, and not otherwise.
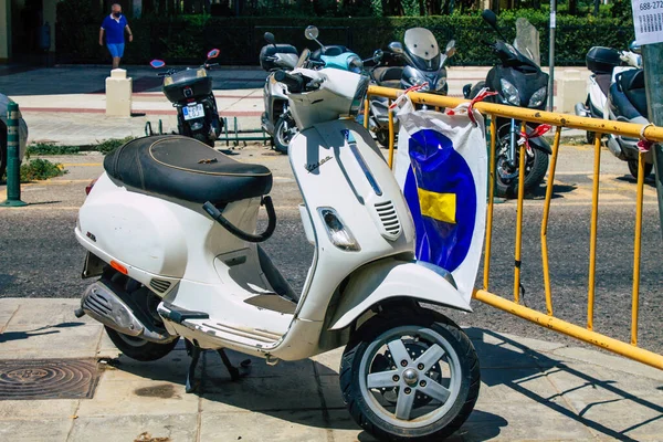
[{"label": "black padded seat of the white Vespa scooter", "polygon": [[235,161],[179,135],[129,141],[106,156],[104,169],[126,186],[199,203],[223,204],[272,190],[272,172],[265,166]]}]

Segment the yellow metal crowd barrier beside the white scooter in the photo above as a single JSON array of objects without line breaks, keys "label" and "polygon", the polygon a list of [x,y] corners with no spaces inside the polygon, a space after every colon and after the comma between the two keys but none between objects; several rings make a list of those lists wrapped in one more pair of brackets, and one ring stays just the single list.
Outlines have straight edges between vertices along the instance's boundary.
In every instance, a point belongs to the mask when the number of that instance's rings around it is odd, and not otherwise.
[{"label": "yellow metal crowd barrier beside the white scooter", "polygon": [[[403,92],[381,86],[370,86],[368,96],[378,95],[390,99],[396,99]],[[465,102],[461,98],[453,98],[441,95],[410,92],[410,99],[415,104],[425,104],[435,108],[456,107]],[[597,227],[598,227],[598,206],[599,206],[599,176],[601,162],[601,135],[615,134],[631,138],[640,138],[642,135],[650,141],[663,141],[663,127],[646,126],[610,122],[597,118],[578,117],[575,115],[558,114],[544,110],[527,109],[523,107],[513,107],[498,105],[493,103],[476,103],[474,108],[483,114],[488,114],[491,118],[491,152],[490,152],[490,173],[488,173],[488,203],[486,217],[486,238],[485,238],[485,257],[484,257],[484,275],[483,288],[474,291],[474,298],[488,304],[493,307],[508,312],[513,315],[527,319],[534,324],[549,328],[555,332],[575,337],[606,350],[622,355],[624,357],[638,360],[649,366],[663,369],[663,356],[652,351],[639,348],[638,345],[638,309],[640,296],[640,246],[642,238],[642,201],[644,187],[644,158],[640,155],[638,162],[638,196],[635,207],[635,240],[634,240],[634,257],[633,257],[633,288],[631,299],[631,341],[630,344],[601,335],[593,330],[593,305],[594,305],[594,288],[596,288],[596,254],[597,254]],[[549,124],[557,128],[555,140],[552,144],[552,155],[550,158],[550,170],[548,173],[546,199],[544,202],[544,217],[541,221],[541,260],[544,271],[544,288],[546,296],[546,314],[520,305],[519,288],[520,288],[520,252],[523,244],[523,202],[525,199],[524,175],[525,175],[525,146],[520,146],[519,150],[519,175],[518,175],[518,200],[517,200],[517,220],[516,220],[516,246],[515,246],[515,266],[514,266],[514,301],[508,301],[488,292],[490,273],[491,273],[491,252],[493,238],[493,194],[495,191],[495,145],[497,127],[495,116],[515,118],[523,122],[532,122],[538,124]],[[365,105],[365,124],[368,127],[368,98]],[[548,220],[550,214],[550,202],[552,199],[552,187],[555,181],[555,170],[557,167],[557,158],[559,154],[560,131],[562,127],[575,129],[583,129],[596,133],[594,141],[594,164],[593,164],[593,181],[592,181],[592,213],[591,213],[591,231],[590,231],[590,255],[589,255],[589,281],[588,281],[588,308],[587,308],[587,325],[586,328],[575,324],[565,322],[552,316],[552,293],[550,288],[550,274],[548,263]],[[393,116],[389,114],[389,166],[393,165]]]}]

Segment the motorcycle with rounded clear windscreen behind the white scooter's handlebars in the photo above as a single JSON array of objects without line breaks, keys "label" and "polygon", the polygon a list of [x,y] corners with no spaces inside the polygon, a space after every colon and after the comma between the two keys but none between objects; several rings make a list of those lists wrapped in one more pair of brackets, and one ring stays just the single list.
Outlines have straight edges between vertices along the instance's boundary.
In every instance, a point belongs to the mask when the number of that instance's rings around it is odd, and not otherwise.
[{"label": "motorcycle with rounded clear windscreen behind the white scooter's handlebars", "polygon": [[[387,53],[393,54],[390,59],[400,59],[402,66],[376,65],[371,72],[371,78],[379,86],[400,87],[407,90],[412,86],[421,86],[422,92],[446,95],[449,84],[446,83],[446,67],[444,63],[455,54],[455,41],[446,43],[444,53],[440,53],[435,35],[424,28],[411,28],[406,31],[403,41],[392,42]],[[385,147],[389,143],[389,101],[385,97],[373,96],[370,98],[370,127],[376,133],[376,139]],[[425,106],[421,106],[425,109]],[[394,118],[394,130],[398,130],[398,119]]]}]

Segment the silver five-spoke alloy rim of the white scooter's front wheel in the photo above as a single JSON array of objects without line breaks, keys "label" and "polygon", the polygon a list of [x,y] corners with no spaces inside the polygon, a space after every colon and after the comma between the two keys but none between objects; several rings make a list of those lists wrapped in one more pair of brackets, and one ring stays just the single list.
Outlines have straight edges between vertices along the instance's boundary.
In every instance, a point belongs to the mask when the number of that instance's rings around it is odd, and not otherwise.
[{"label": "silver five-spoke alloy rim of the white scooter's front wheel", "polygon": [[[428,348],[417,355],[407,347],[412,343]],[[387,355],[391,367],[371,371],[379,355]],[[449,373],[446,378],[442,376],[440,382],[430,376],[438,369]],[[421,428],[442,419],[459,397],[461,378],[460,358],[452,345],[433,329],[414,325],[392,328],[378,336],[364,352],[359,365],[359,389],[364,400],[380,419],[401,428]],[[445,380],[448,382],[443,382]],[[380,401],[385,390],[397,392],[393,411]],[[418,407],[415,400],[422,396],[432,401]],[[433,406],[434,402],[438,404]]]}]

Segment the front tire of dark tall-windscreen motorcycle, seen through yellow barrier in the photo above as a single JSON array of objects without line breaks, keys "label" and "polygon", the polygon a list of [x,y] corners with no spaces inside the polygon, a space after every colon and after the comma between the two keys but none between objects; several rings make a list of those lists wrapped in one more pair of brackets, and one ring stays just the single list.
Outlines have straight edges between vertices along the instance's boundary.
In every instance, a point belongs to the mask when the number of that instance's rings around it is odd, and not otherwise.
[{"label": "front tire of dark tall-windscreen motorcycle, seen through yellow barrier", "polygon": [[[501,141],[501,145],[502,143],[504,141]],[[506,139],[506,143],[508,143],[508,138]],[[516,164],[519,164],[519,150],[520,149],[516,149]],[[548,171],[548,154],[534,148],[532,151],[534,152],[534,157],[528,156],[525,162],[525,193],[529,193],[536,189],[544,181],[546,172]],[[518,169],[516,168],[512,173],[508,173],[503,167],[506,158],[497,156],[496,161],[495,196],[499,198],[517,198]],[[515,175],[515,177],[508,178],[509,175]]]}]

